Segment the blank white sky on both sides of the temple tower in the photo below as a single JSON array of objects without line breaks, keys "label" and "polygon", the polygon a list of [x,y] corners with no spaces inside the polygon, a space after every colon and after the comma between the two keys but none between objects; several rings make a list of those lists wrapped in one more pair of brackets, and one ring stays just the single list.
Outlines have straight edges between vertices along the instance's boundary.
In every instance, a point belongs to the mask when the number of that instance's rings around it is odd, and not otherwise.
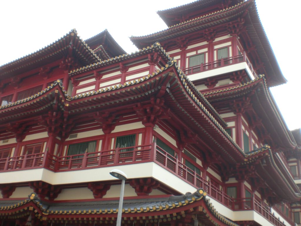
[{"label": "blank white sky on both sides of the temple tower", "polygon": [[[164,30],[167,26],[156,11],[191,1],[1,1],[0,65],[35,52],[76,28],[82,39],[104,29],[127,52],[135,46],[129,36]],[[301,1],[256,0],[259,17],[287,84],[271,89],[290,130],[301,127],[298,55]]]}]

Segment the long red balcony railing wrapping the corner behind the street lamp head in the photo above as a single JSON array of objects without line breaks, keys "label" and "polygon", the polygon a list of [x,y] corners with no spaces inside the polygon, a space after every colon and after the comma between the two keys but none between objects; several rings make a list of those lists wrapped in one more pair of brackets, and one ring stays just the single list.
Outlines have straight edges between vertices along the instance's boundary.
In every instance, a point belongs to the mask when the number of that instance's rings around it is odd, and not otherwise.
[{"label": "long red balcony railing wrapping the corner behind the street lamp head", "polygon": [[[185,160],[182,156],[181,160]],[[195,170],[161,149],[156,142],[147,145],[116,148],[101,152],[86,152],[79,155],[55,156],[48,152],[21,155],[0,159],[0,172],[14,170],[27,170],[46,168],[54,172],[73,171],[80,169],[101,168],[115,165],[155,162],[171,173],[177,175],[185,182],[196,188],[203,188],[208,195],[233,211],[254,210],[276,226],[284,226],[275,215],[270,212],[270,207],[254,197],[237,199],[228,196],[210,181],[205,180]],[[192,161],[190,161],[192,162]],[[197,163],[192,163],[195,168],[200,168]],[[290,224],[294,223],[280,210],[276,211]]]}]

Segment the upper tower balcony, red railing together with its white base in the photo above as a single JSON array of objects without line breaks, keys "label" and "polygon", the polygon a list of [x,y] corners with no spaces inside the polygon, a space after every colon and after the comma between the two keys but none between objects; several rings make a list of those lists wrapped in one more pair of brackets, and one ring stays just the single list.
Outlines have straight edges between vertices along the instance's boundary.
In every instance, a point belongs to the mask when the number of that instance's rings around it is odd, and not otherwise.
[{"label": "upper tower balcony, red railing together with its white base", "polygon": [[187,67],[183,69],[183,72],[190,80],[194,81],[239,70],[246,70],[251,80],[258,77],[245,52],[237,56],[222,58],[193,67]]}]

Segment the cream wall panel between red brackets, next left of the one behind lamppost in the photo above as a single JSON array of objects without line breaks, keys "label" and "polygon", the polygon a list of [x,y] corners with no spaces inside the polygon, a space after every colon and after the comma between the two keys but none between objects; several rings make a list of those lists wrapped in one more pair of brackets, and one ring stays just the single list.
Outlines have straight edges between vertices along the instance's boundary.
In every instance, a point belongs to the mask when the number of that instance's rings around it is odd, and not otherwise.
[{"label": "cream wall panel between red brackets, next left of the one behind lamppost", "polygon": [[93,193],[87,187],[66,188],[54,200],[94,199]]}]

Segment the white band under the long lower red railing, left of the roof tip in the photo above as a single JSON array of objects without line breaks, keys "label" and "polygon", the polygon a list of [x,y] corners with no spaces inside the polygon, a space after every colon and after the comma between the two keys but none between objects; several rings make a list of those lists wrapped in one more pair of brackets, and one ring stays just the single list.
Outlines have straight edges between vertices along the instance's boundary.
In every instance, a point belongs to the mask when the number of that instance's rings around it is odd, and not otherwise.
[{"label": "white band under the long lower red railing, left of the roof tip", "polygon": [[161,167],[161,165],[158,165],[154,162],[58,173],[54,173],[47,169],[12,171],[1,173],[0,181],[2,183],[7,184],[15,182],[22,183],[28,181],[42,180],[46,183],[53,185],[86,183],[93,181],[108,181],[116,180],[109,174],[110,171],[116,168],[123,171],[129,179],[153,177],[154,179],[160,181],[160,183],[163,183],[166,186],[173,188],[182,194],[185,194],[186,192],[194,192],[196,190],[193,186],[186,183],[177,175],[172,174],[168,170]]}]

